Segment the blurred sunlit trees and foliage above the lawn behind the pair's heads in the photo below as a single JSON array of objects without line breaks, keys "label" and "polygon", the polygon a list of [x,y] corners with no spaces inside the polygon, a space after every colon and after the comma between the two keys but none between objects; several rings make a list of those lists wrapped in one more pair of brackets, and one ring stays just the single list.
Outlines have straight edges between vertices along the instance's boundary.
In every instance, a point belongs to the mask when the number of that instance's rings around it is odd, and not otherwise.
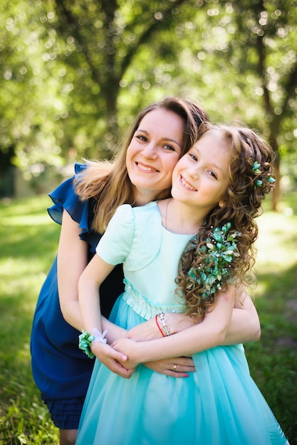
[{"label": "blurred sunlit trees and foliage above the lawn behind the pair's heads", "polygon": [[259,129],[297,182],[294,0],[1,2],[0,195],[41,193],[113,153],[166,95]]}]

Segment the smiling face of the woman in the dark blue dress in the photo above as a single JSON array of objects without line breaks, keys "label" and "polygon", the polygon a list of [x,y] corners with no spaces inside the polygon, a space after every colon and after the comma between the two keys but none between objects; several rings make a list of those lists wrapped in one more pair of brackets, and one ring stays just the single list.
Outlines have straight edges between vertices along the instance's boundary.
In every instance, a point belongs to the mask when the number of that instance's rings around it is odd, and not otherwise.
[{"label": "smiling face of the woman in the dark blue dress", "polygon": [[[167,109],[154,109],[140,122],[127,148],[127,172],[137,204],[164,197],[182,151],[184,121]],[[167,189],[167,190],[166,190]]]}]

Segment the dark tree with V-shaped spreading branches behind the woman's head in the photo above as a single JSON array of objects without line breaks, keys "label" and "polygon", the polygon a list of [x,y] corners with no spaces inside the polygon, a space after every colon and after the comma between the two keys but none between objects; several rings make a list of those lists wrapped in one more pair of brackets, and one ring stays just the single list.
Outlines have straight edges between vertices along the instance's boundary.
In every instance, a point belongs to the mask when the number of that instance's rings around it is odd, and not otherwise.
[{"label": "dark tree with V-shaped spreading branches behind the woman's head", "polygon": [[98,104],[105,110],[98,110],[98,116],[103,115],[106,121],[107,149],[113,149],[118,139],[118,97],[127,68],[142,45],[176,20],[183,3],[185,0],[56,0],[56,29],[62,37],[73,38],[76,48],[65,61],[77,65],[73,59],[80,53],[85,82],[89,75]]}]

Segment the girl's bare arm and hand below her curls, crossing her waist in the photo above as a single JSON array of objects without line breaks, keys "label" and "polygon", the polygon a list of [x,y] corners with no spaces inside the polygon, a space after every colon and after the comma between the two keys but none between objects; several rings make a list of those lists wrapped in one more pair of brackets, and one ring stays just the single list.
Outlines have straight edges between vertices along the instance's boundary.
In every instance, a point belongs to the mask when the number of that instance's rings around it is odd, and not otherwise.
[{"label": "girl's bare arm and hand below her curls, crossing her waist", "polygon": [[218,295],[217,303],[207,314],[203,323],[185,329],[174,336],[167,336],[152,341],[137,343],[127,338],[120,338],[113,343],[113,348],[128,357],[127,368],[135,368],[139,363],[146,363],[160,358],[179,357],[214,348],[226,338],[234,308],[234,286]]}]

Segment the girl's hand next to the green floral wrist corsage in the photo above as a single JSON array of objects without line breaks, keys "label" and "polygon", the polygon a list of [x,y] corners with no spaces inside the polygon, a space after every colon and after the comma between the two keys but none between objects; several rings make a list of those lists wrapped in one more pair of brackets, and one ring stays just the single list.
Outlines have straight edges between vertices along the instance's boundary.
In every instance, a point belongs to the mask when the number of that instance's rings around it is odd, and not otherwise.
[{"label": "girl's hand next to the green floral wrist corsage", "polygon": [[100,341],[93,343],[91,349],[98,360],[112,372],[126,379],[131,377],[135,367],[125,366],[125,363],[127,363],[127,355],[111,348],[108,344],[100,343]]}]

